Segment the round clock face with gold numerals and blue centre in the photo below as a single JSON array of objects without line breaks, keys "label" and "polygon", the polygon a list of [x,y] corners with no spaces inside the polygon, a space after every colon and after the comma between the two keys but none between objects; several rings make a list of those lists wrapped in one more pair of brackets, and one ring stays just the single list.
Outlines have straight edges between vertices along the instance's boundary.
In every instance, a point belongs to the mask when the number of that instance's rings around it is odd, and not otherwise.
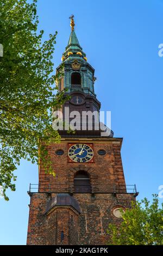
[{"label": "round clock face with gold numerals and blue centre", "polygon": [[70,157],[70,162],[89,162],[93,158],[93,149],[87,144],[73,144],[68,150],[68,156]]}]

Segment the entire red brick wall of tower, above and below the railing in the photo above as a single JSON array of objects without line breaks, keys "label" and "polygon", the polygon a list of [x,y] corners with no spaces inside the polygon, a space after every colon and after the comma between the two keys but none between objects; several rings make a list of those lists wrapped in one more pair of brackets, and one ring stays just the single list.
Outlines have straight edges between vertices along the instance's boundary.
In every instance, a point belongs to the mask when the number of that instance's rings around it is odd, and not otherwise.
[{"label": "entire red brick wall of tower, above and below the railing", "polygon": [[[40,192],[33,193],[30,202],[28,240],[29,245],[102,245],[108,240],[109,223],[120,223],[121,219],[112,214],[115,206],[129,208],[131,200],[135,200],[133,194],[113,192],[113,185],[116,188],[122,187],[125,190],[125,180],[121,161],[121,139],[111,138],[99,141],[95,139],[77,143],[93,143],[95,163],[68,163],[67,143],[73,140],[64,141],[60,144],[48,146],[48,153],[51,156],[53,169],[56,177],[46,175],[40,165],[39,182],[42,185]],[[64,155],[57,156],[55,151],[63,149]],[[106,155],[99,156],[99,149],[105,149]],[[85,170],[90,176],[90,182],[95,194],[77,194],[73,197],[78,200],[81,214],[72,214],[72,209],[57,209],[49,215],[45,214],[48,200],[60,192],[73,192],[73,179],[78,170]],[[43,187],[51,185],[52,194],[47,194]],[[45,192],[45,193],[43,193]],[[120,191],[118,191],[120,192]],[[71,222],[73,215],[74,222]],[[60,241],[61,231],[64,231],[65,240]]]}]

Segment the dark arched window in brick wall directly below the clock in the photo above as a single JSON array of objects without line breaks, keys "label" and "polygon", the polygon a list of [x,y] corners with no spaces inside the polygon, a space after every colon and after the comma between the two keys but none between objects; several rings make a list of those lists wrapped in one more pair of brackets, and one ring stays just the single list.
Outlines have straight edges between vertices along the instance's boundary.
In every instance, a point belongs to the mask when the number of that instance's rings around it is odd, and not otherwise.
[{"label": "dark arched window in brick wall directly below the clock", "polygon": [[91,193],[90,178],[84,170],[79,170],[74,176],[74,192]]}]

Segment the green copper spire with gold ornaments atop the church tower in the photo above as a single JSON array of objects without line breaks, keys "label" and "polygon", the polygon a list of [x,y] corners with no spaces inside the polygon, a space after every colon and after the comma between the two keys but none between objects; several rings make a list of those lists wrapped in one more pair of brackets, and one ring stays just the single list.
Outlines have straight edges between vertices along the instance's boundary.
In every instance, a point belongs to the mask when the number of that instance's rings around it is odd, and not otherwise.
[{"label": "green copper spire with gold ornaments atop the church tower", "polygon": [[64,65],[59,65],[57,68],[58,74],[62,73],[64,69],[64,74],[60,75],[58,87],[60,91],[66,89],[66,93],[80,92],[96,97],[94,92],[95,70],[87,62],[86,54],[79,45],[74,32],[73,17],[73,15],[70,17],[71,34],[68,45],[61,58]]}]

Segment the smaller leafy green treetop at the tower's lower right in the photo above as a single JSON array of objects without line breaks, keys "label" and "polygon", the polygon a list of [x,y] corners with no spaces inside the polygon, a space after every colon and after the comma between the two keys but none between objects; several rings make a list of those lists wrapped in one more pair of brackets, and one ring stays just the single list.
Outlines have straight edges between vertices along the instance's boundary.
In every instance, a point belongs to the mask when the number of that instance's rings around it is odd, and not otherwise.
[{"label": "smaller leafy green treetop at the tower's lower right", "polygon": [[119,227],[110,224],[108,234],[112,245],[163,245],[163,204],[159,208],[157,195],[153,202],[147,198],[133,202],[131,209],[122,212]]}]

